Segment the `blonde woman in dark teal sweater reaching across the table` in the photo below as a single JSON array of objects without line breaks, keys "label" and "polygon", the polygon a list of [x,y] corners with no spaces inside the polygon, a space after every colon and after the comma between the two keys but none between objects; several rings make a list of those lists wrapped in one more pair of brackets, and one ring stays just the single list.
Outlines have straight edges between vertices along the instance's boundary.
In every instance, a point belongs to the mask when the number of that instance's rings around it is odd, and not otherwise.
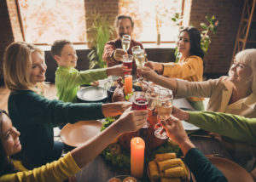
[{"label": "blonde woman in dark teal sweater reaching across the table", "polygon": [[10,89],[9,116],[21,132],[18,155],[30,168],[61,156],[63,144],[54,142],[53,128],[67,122],[120,115],[130,104],[71,104],[44,98],[44,52],[29,43],[11,43],[3,59],[4,81]]}]

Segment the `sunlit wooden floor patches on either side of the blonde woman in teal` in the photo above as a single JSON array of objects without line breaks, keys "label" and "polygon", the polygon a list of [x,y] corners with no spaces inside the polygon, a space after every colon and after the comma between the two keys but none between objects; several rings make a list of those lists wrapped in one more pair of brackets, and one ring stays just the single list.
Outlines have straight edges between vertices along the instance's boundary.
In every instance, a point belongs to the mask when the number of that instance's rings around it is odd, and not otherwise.
[{"label": "sunlit wooden floor patches on either side of the blonde woman in teal", "polygon": [[[44,97],[53,100],[56,98],[55,84],[51,83],[45,87]],[[9,89],[0,87],[0,109],[8,111]]]}]

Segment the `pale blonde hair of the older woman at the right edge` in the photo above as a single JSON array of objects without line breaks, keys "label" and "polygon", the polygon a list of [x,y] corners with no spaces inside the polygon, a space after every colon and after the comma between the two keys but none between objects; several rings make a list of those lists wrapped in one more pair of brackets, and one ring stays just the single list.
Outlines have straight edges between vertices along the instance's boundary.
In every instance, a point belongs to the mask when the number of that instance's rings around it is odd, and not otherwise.
[{"label": "pale blonde hair of the older woman at the right edge", "polygon": [[248,65],[252,69],[252,91],[256,94],[256,48],[242,50],[235,56],[236,62]]}]

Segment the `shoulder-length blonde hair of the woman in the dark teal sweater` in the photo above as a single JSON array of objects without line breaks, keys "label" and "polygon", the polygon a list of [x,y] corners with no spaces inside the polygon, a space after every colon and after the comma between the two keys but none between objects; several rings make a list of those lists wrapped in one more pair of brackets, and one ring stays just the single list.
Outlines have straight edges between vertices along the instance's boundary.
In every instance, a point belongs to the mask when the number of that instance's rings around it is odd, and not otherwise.
[{"label": "shoulder-length blonde hair of the woman in the dark teal sweater", "polygon": [[33,90],[37,93],[44,92],[44,83],[38,83],[38,88],[30,81],[32,71],[33,52],[38,52],[44,57],[44,51],[30,43],[11,43],[3,55],[3,76],[7,88],[12,92],[17,90]]}]

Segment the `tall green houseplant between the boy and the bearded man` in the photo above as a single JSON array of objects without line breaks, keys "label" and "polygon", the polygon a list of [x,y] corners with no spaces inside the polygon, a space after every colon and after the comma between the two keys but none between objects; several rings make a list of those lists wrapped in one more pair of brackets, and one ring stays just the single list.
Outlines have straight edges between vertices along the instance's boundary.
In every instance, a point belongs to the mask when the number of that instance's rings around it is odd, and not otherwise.
[{"label": "tall green houseplant between the boy and the bearded man", "polygon": [[102,60],[102,54],[104,52],[105,43],[113,36],[113,26],[109,24],[108,16],[102,16],[94,11],[92,14],[93,23],[88,28],[90,38],[88,43],[92,46],[92,50],[88,54],[89,69],[104,68],[106,62]]}]

